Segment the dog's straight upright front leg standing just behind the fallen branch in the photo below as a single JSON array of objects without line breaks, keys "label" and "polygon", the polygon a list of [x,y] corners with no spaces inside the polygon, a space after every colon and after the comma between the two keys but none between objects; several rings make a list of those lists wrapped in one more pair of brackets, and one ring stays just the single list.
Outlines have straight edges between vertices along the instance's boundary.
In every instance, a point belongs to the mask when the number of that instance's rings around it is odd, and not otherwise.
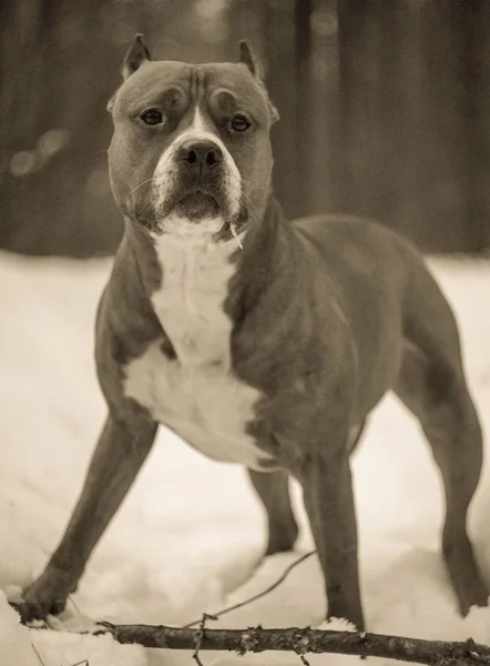
[{"label": "dog's straight upright front leg standing just behind the fallen branch", "polygon": [[327,617],[345,617],[364,630],[357,525],[348,454],[314,455],[302,478],[305,508],[325,576]]}]

